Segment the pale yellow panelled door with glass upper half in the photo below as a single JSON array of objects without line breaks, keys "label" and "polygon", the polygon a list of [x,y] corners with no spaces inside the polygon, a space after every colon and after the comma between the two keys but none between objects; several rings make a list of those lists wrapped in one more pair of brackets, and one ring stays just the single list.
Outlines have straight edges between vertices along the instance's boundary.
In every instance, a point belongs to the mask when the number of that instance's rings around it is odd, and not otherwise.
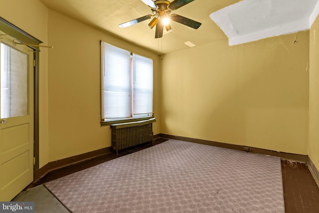
[{"label": "pale yellow panelled door with glass upper half", "polygon": [[0,39],[0,201],[33,181],[33,51]]}]

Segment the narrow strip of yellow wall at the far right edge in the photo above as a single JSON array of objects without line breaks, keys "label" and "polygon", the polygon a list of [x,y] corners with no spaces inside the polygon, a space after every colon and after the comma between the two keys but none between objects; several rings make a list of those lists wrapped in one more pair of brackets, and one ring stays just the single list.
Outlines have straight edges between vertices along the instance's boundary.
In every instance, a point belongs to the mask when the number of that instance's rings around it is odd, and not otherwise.
[{"label": "narrow strip of yellow wall at the far right edge", "polygon": [[319,17],[310,29],[308,154],[319,169]]}]

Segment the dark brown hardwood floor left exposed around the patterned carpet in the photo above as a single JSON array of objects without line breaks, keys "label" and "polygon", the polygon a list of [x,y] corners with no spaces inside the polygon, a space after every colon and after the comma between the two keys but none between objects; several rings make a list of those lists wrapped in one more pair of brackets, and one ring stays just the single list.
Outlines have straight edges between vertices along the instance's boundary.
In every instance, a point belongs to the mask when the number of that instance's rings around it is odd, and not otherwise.
[{"label": "dark brown hardwood floor left exposed around the patterned carpet", "polygon": [[[31,183],[25,190],[112,159],[155,146],[166,140],[167,139],[160,138],[155,140],[153,144],[146,144],[130,151],[121,152],[118,155],[108,153],[78,164],[54,170],[40,180]],[[281,164],[286,213],[319,213],[319,187],[310,173],[307,164],[288,160],[282,160]]]}]

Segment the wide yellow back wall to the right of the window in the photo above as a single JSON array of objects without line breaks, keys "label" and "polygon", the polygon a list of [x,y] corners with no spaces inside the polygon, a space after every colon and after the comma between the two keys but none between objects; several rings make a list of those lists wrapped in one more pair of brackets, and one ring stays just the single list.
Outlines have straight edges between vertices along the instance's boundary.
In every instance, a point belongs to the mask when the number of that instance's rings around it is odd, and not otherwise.
[{"label": "wide yellow back wall to the right of the window", "polygon": [[307,155],[308,69],[309,30],[166,54],[160,132]]}]

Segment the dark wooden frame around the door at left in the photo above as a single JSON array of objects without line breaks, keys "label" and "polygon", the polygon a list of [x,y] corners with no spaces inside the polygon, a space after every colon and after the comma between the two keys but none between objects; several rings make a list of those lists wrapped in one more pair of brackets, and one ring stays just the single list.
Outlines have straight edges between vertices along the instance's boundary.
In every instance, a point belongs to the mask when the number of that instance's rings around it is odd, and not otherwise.
[{"label": "dark wooden frame around the door at left", "polygon": [[[33,37],[22,29],[18,28],[14,24],[0,17],[0,30],[4,33],[8,33],[9,36],[13,37],[21,43],[39,45],[43,43],[39,39]],[[5,36],[5,35],[2,35]],[[33,147],[33,180],[35,178],[34,172],[39,169],[39,53],[40,49],[37,46],[30,46],[33,49],[33,63],[34,68],[34,147]]]}]

